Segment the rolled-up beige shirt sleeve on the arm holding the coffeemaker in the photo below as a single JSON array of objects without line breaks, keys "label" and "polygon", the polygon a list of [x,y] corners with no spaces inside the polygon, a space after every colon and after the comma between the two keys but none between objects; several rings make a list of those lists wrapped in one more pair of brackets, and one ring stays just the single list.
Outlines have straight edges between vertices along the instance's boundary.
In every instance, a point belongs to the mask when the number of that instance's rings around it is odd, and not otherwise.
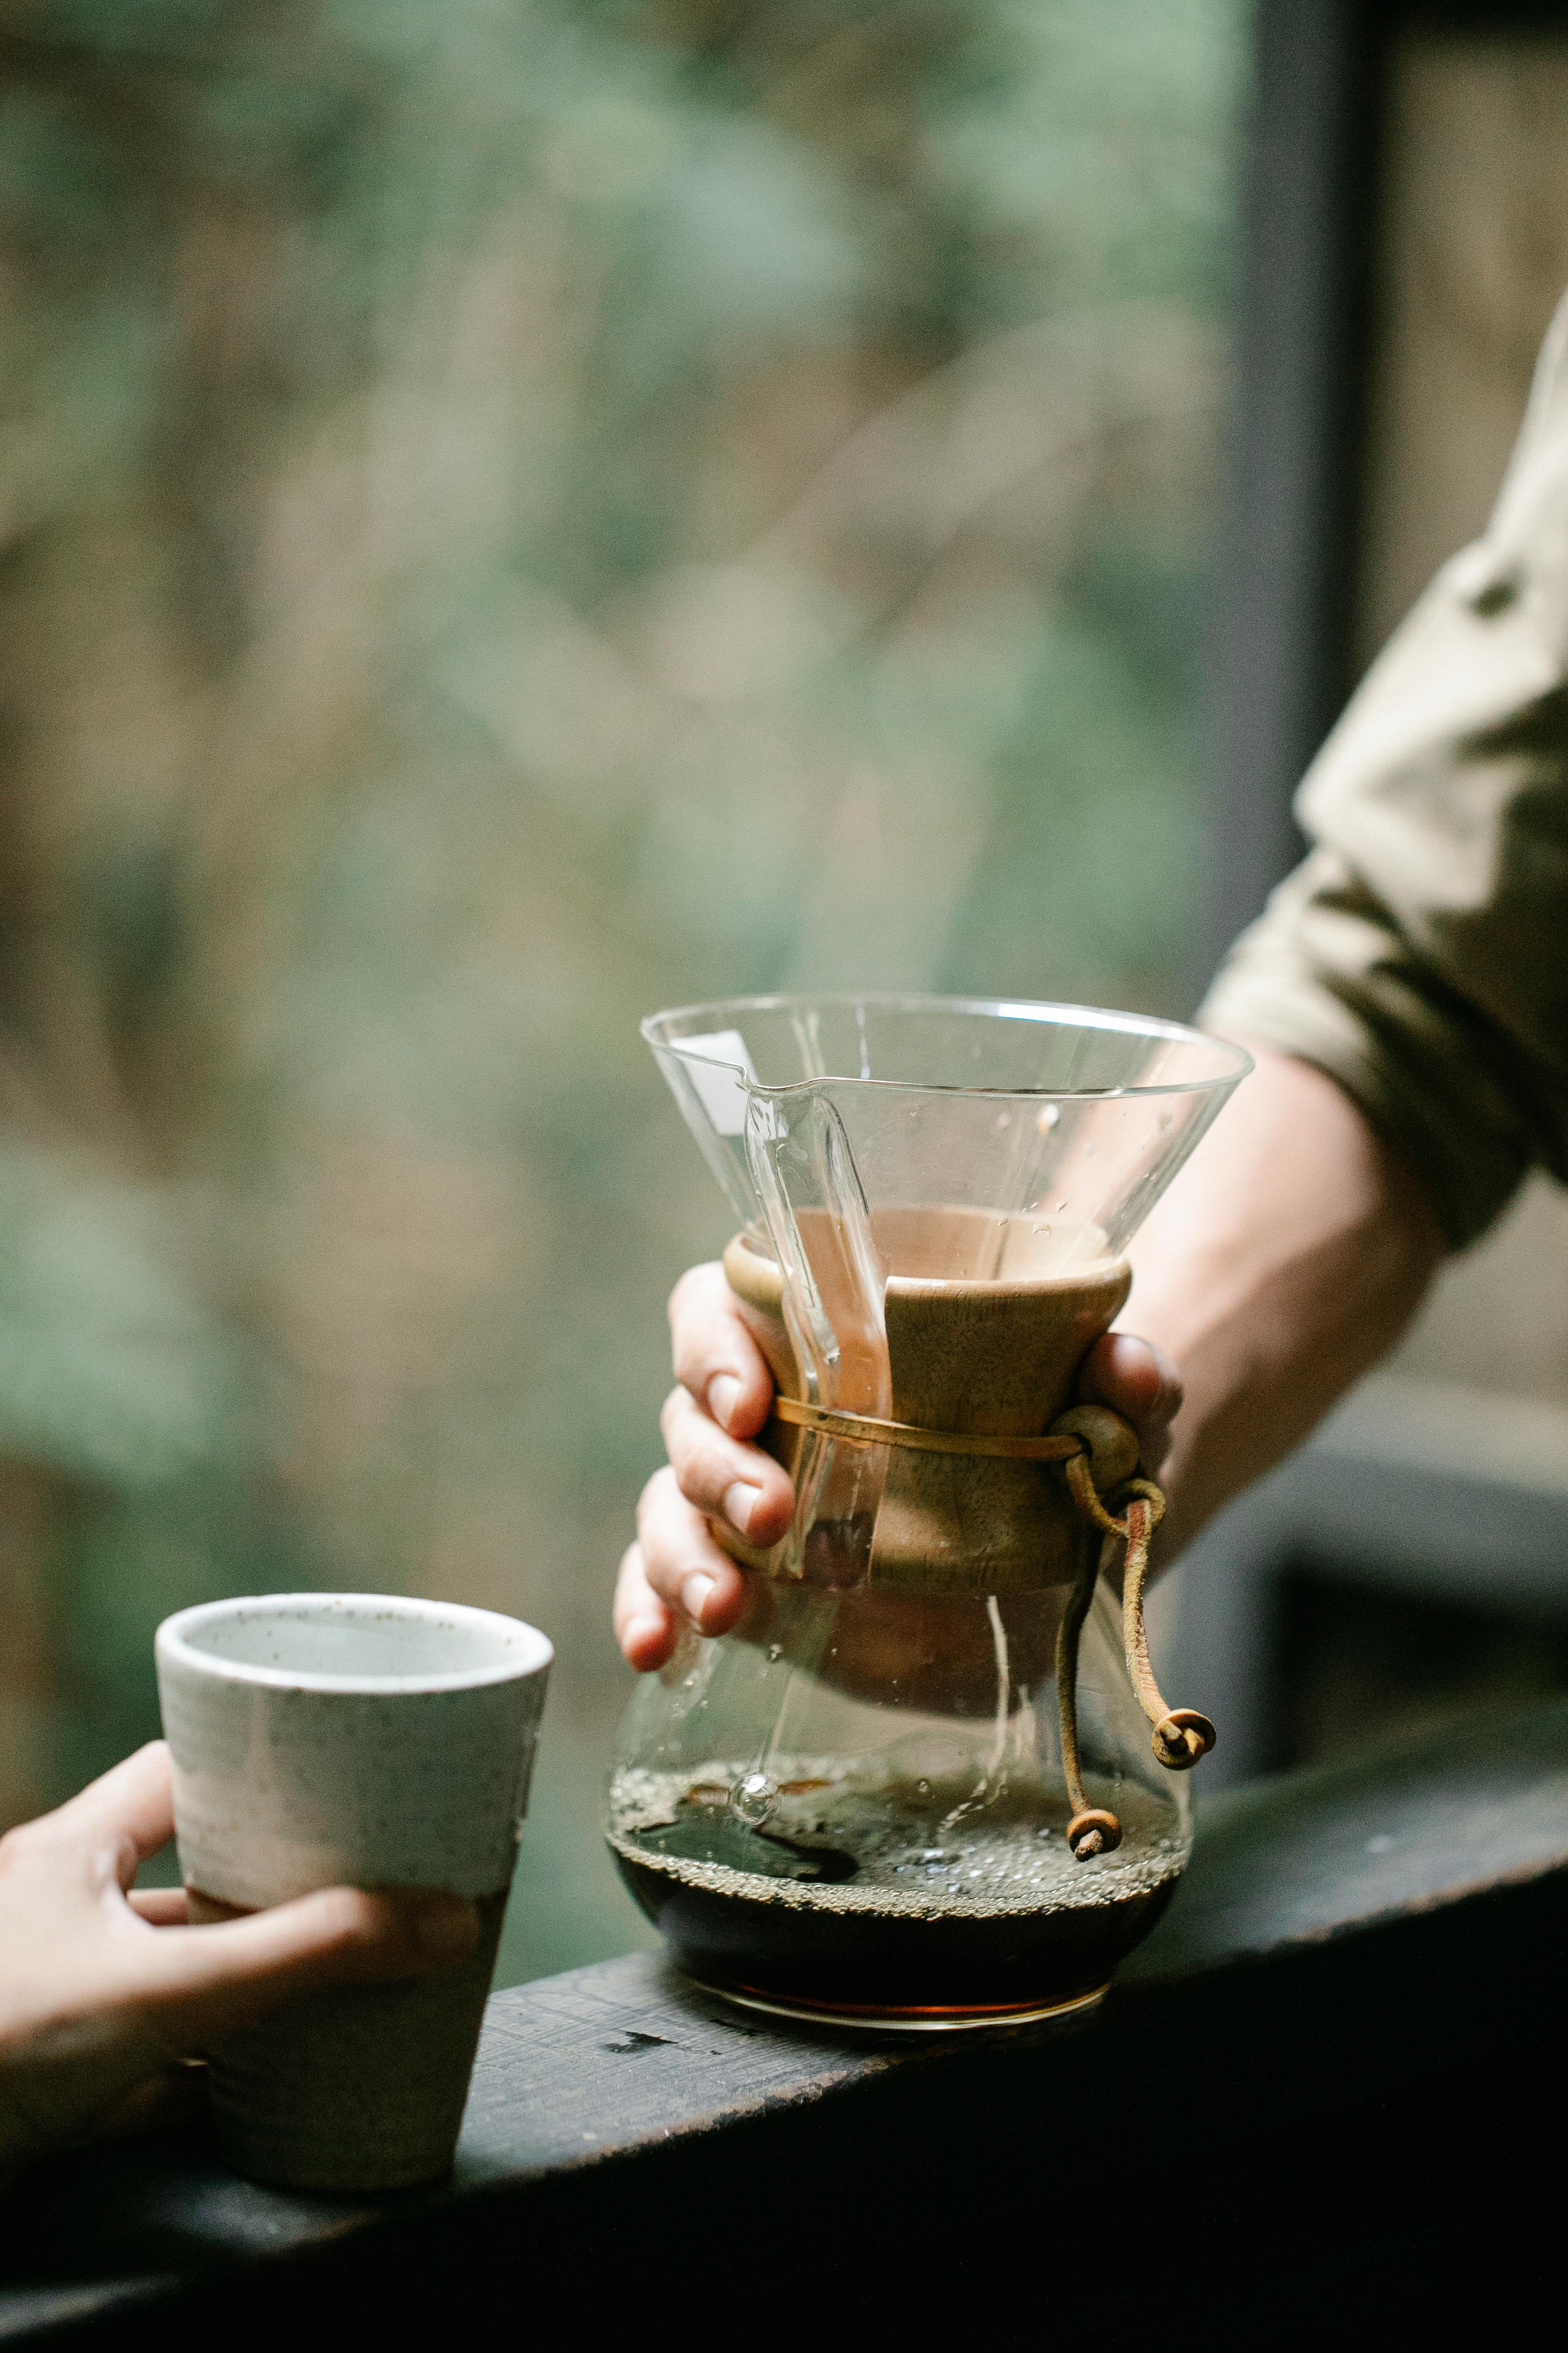
[{"label": "rolled-up beige shirt sleeve on the arm holding the coffeemaker", "polygon": [[1201,1021],[1328,1071],[1450,1240],[1568,1181],[1568,301],[1483,539],[1399,628],[1298,795],[1312,852]]}]

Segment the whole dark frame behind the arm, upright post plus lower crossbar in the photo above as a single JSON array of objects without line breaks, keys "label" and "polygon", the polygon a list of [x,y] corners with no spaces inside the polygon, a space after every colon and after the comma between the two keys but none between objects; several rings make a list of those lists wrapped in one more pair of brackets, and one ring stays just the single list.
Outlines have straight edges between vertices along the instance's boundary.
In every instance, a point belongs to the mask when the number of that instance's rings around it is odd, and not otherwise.
[{"label": "whole dark frame behind the arm, upright post plus lower crossbar", "polygon": [[[1211,906],[1199,986],[1300,856],[1291,795],[1352,687],[1387,68],[1403,31],[1556,33],[1563,0],[1258,0],[1244,169],[1237,426],[1220,546],[1211,713]],[[1568,1558],[1568,1494],[1375,1459],[1345,1421],[1241,1497],[1192,1548],[1161,1666],[1222,1727],[1208,1791],[1267,1769],[1281,1579],[1352,1574],[1542,1612]],[[1349,1447],[1349,1452],[1347,1452]]]}]

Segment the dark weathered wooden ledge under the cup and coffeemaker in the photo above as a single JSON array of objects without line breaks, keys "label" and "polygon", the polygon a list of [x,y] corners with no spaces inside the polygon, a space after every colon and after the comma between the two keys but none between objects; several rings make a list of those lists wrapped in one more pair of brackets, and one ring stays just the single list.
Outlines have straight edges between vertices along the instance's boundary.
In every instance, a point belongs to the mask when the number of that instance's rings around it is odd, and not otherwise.
[{"label": "dark weathered wooden ledge under the cup and coffeemaker", "polygon": [[1568,1706],[1215,1798],[1081,2021],[769,2026],[632,1955],[494,1998],[449,2184],[237,2181],[202,2132],[5,2207],[0,2339],[839,2327],[1359,2346],[1556,2299]]}]

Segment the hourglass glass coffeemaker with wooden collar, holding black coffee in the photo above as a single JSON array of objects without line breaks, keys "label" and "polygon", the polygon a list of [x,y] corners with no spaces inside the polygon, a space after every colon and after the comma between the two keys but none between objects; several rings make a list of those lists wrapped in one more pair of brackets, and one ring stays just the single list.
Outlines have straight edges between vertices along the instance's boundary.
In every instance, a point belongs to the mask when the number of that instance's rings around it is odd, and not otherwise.
[{"label": "hourglass glass coffeemaker with wooden collar, holding black coffee", "polygon": [[[741,1626],[621,1727],[607,1833],[701,1984],[865,2026],[1098,2000],[1190,1852],[1143,1638],[1161,1511],[1074,1407],[1126,1245],[1246,1054],[1133,1014],[745,998],[644,1021],[741,1233],[795,1482]],[[1121,1569],[1121,1598],[1112,1574]]]}]

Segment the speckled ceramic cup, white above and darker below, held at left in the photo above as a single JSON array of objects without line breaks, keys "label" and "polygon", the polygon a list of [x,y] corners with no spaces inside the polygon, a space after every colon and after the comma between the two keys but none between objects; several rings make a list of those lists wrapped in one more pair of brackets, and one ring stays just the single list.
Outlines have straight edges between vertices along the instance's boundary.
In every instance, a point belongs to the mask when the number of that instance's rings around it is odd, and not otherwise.
[{"label": "speckled ceramic cup, white above and darker below, held at left", "polygon": [[480,1904],[458,1969],[317,1993],[212,2052],[240,2172],[383,2191],[451,2165],[550,1659],[520,1619],[381,1593],[205,1602],[158,1628],[195,1918],[341,1882]]}]

